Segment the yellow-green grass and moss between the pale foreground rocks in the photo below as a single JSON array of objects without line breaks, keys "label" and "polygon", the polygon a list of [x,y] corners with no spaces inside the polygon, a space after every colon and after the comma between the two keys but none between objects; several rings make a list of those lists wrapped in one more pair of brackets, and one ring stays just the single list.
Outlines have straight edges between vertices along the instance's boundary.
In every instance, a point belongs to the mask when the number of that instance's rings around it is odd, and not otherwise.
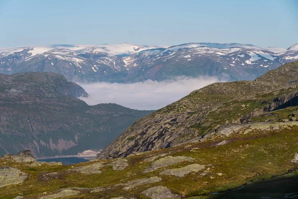
[{"label": "yellow-green grass and moss between the pale foreground rocks", "polygon": [[[257,132],[255,132],[257,133]],[[250,134],[254,136],[254,132]],[[241,138],[241,135],[238,135]],[[179,168],[189,164],[209,165],[211,175],[200,176],[198,173],[189,174],[184,178],[173,176],[161,176],[162,181],[153,185],[145,185],[134,188],[130,191],[123,191],[122,187],[116,187],[105,192],[96,194],[84,193],[83,197],[104,197],[112,198],[119,196],[131,196],[140,198],[140,193],[152,186],[165,186],[174,193],[183,194],[187,197],[207,195],[213,192],[224,192],[235,189],[241,185],[247,184],[253,180],[268,180],[272,176],[282,175],[297,165],[291,163],[291,159],[298,151],[298,145],[295,141],[298,138],[298,130],[292,129],[274,134],[267,134],[266,137],[239,140],[222,146],[212,147],[212,141],[207,143],[192,143],[190,147],[184,148],[181,145],[173,148],[152,151],[148,154],[131,156],[128,159],[129,167],[123,171],[113,171],[110,166],[102,168],[102,174],[98,175],[79,175],[76,173],[66,172],[71,166],[41,166],[29,168],[22,164],[15,164],[0,161],[1,166],[13,166],[20,168],[29,174],[29,179],[22,185],[12,185],[0,189],[0,196],[11,199],[18,193],[24,196],[36,198],[37,194],[52,192],[55,190],[68,187],[109,187],[140,178],[149,178],[158,176],[163,168],[144,174],[143,171],[150,163],[143,161],[149,155],[159,153],[170,153],[172,156],[188,156],[195,158],[195,161],[182,162],[176,165],[170,165],[167,169]],[[199,147],[200,149],[189,152],[191,148]],[[102,163],[107,164],[112,160],[104,160]],[[77,166],[89,165],[91,162],[80,163]],[[41,180],[40,175],[48,172],[59,172],[60,179]],[[218,176],[217,173],[223,173]],[[296,176],[297,174],[289,174]],[[211,177],[214,177],[211,179]],[[293,177],[293,176],[291,176]],[[7,193],[7,194],[6,194]],[[82,198],[83,198],[82,197]]]}]

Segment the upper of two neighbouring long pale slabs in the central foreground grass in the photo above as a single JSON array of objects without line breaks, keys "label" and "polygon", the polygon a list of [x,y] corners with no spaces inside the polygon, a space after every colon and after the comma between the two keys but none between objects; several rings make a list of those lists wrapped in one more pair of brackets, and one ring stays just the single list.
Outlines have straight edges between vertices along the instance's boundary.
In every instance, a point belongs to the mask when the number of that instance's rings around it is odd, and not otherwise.
[{"label": "upper of two neighbouring long pale slabs in the central foreground grass", "polygon": [[148,173],[151,171],[155,171],[162,167],[167,167],[169,165],[177,164],[179,162],[183,161],[192,161],[193,158],[186,157],[186,156],[167,156],[164,158],[160,158],[159,160],[156,160],[150,164],[150,166],[144,171],[144,173]]}]

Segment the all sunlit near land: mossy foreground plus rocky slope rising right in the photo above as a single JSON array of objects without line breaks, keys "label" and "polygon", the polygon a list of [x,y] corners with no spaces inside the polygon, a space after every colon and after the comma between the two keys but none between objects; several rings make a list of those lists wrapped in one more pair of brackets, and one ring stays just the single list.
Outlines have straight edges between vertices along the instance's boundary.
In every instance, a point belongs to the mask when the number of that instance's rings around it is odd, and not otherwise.
[{"label": "all sunlit near land: mossy foreground plus rocky slope rising right", "polygon": [[0,157],[4,199],[298,198],[298,62],[216,83],[138,120],[98,158]]}]

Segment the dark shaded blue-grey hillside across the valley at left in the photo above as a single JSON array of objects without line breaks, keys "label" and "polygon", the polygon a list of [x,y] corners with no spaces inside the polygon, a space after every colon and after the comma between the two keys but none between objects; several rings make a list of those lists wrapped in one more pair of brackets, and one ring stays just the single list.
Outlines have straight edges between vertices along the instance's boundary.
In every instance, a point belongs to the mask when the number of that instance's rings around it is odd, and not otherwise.
[{"label": "dark shaded blue-grey hillside across the valley at left", "polygon": [[100,149],[150,112],[117,104],[89,106],[78,97],[88,94],[57,73],[0,75],[0,155]]}]

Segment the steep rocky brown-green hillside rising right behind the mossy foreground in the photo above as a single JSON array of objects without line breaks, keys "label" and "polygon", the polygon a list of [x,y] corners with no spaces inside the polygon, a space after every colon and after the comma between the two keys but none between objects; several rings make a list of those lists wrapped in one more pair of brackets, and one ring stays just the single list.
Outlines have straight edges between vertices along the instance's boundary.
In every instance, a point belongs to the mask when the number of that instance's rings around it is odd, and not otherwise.
[{"label": "steep rocky brown-green hillside rising right behind the mossy foreground", "polygon": [[298,62],[292,62],[255,81],[215,83],[194,91],[135,122],[99,158],[126,157],[244,128],[259,115],[298,105],[297,77]]}]

